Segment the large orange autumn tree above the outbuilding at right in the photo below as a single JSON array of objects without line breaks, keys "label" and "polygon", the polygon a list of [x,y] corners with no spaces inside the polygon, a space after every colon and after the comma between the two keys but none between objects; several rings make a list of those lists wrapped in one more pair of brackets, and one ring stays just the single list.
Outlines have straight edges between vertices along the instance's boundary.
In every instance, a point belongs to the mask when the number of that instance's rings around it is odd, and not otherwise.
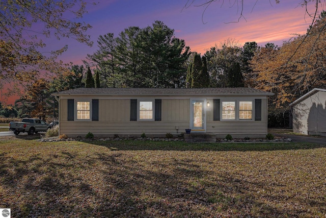
[{"label": "large orange autumn tree above the outbuilding at right", "polygon": [[308,29],[309,37],[297,36],[277,49],[261,48],[253,57],[256,87],[274,92],[276,107],[287,107],[312,88],[326,85],[325,26],[326,18],[321,17]]}]

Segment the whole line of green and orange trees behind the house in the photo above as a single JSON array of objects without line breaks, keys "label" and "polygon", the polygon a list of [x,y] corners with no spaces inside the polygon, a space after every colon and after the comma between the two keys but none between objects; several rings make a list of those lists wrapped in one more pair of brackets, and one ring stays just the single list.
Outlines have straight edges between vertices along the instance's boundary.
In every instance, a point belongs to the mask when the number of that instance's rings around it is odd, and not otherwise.
[{"label": "whole line of green and orange trees behind the house", "polygon": [[[205,54],[191,52],[185,41],[161,21],[151,27],[129,27],[117,37],[98,37],[98,50],[84,65],[71,64],[64,74],[38,79],[17,100],[18,116],[53,113],[50,93],[77,87],[253,87],[274,92],[269,108],[280,108],[314,87],[325,87],[325,12],[307,34],[276,46],[256,42],[239,45],[227,39]],[[308,35],[309,33],[309,35]],[[92,72],[93,71],[93,72]],[[42,102],[42,106],[39,106]],[[44,104],[43,104],[44,103]],[[31,112],[33,111],[33,112]],[[30,113],[30,114],[29,114]]]}]

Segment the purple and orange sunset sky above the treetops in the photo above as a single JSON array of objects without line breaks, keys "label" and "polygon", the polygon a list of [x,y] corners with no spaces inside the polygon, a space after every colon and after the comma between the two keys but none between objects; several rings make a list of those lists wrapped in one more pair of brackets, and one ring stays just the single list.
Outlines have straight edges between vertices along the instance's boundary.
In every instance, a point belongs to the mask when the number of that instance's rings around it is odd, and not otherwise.
[{"label": "purple and orange sunset sky above the treetops", "polygon": [[[46,50],[57,50],[68,45],[68,51],[59,57],[64,63],[83,64],[87,54],[97,49],[100,35],[114,33],[117,37],[124,29],[136,26],[152,26],[155,20],[164,22],[174,29],[175,37],[185,40],[192,52],[202,55],[215,45],[220,45],[228,38],[243,46],[245,42],[255,41],[259,46],[274,43],[281,46],[295,34],[305,34],[312,19],[301,6],[302,0],[248,0],[241,5],[233,4],[236,0],[214,1],[209,7],[198,7],[206,0],[97,0],[97,5],[89,5],[88,13],[79,21],[89,23],[87,31],[94,41],[89,47],[73,39],[54,36],[45,40]],[[238,0],[239,1],[239,0]],[[320,6],[319,6],[320,7]],[[323,8],[319,8],[319,12]],[[314,13],[314,2],[308,12]],[[240,19],[239,19],[240,17]],[[66,17],[70,19],[69,17]],[[0,99],[4,102],[3,97]],[[13,104],[14,99],[7,101]]]}]

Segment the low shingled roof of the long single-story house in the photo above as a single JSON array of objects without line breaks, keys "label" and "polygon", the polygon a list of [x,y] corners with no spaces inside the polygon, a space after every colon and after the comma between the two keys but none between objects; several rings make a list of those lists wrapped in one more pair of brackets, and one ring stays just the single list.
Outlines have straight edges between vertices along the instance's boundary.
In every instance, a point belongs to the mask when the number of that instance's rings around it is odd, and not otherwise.
[{"label": "low shingled roof of the long single-story house", "polygon": [[52,95],[274,95],[254,88],[76,88],[52,93]]}]

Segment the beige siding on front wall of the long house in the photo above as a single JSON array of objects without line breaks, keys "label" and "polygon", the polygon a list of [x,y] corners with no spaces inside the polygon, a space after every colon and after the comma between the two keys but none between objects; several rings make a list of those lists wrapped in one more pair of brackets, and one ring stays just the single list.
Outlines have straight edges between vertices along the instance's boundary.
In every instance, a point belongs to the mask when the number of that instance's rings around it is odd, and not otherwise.
[{"label": "beige siding on front wall of the long house", "polygon": [[[76,96],[74,96],[76,98]],[[233,97],[238,99],[238,97]],[[252,97],[252,100],[255,98]],[[213,106],[213,99],[207,99]],[[213,120],[213,108],[206,111],[206,133],[224,138],[231,134],[237,137],[265,137],[267,134],[267,98],[262,99],[262,120],[220,121]],[[161,121],[130,121],[130,99],[99,99],[99,119],[92,121],[67,121],[67,99],[60,100],[60,134],[68,137],[82,136],[92,132],[95,137],[120,136],[165,136],[166,133],[181,134],[189,128],[190,99],[162,99]]]}]

